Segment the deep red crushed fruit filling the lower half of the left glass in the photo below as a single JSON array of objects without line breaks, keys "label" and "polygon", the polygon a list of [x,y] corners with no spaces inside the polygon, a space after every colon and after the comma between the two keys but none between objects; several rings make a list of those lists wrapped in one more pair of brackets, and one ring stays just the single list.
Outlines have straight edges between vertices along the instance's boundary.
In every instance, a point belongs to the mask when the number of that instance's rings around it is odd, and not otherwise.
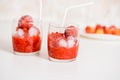
[{"label": "deep red crushed fruit filling the lower half of the left glass", "polygon": [[41,49],[41,38],[39,35],[36,36],[26,36],[21,38],[17,35],[12,37],[13,49],[16,52],[36,52]]}]

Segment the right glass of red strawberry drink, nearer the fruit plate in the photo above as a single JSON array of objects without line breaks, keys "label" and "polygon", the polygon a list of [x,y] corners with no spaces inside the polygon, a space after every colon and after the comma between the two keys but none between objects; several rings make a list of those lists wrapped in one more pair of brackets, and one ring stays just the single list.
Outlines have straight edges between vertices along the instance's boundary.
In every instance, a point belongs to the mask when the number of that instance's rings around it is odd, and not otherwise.
[{"label": "right glass of red strawberry drink, nearer the fruit plate", "polygon": [[72,25],[68,27],[49,25],[49,60],[58,62],[74,61],[79,47],[78,34],[79,29]]}]

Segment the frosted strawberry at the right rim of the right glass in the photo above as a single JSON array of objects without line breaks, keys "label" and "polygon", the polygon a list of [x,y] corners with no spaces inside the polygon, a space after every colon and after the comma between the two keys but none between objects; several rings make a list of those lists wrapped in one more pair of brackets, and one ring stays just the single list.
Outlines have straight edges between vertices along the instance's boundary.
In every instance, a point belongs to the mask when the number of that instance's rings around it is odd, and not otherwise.
[{"label": "frosted strawberry at the right rim of the right glass", "polygon": [[78,30],[75,26],[69,26],[67,27],[67,29],[64,32],[65,37],[69,37],[69,36],[73,36],[73,37],[77,37],[78,35]]}]

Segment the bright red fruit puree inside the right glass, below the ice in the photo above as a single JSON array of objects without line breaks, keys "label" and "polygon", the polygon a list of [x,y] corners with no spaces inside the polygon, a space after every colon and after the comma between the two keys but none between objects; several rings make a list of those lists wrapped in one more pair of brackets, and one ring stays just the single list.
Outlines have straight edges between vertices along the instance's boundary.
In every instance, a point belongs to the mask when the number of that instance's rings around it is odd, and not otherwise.
[{"label": "bright red fruit puree inside the right glass, below the ice", "polygon": [[[55,34],[56,35],[56,34]],[[58,46],[57,38],[58,37],[54,37],[54,34],[49,34],[48,35],[48,53],[49,56],[55,59],[61,59],[61,60],[67,60],[67,59],[74,59],[77,56],[78,53],[78,40],[76,41],[76,43],[74,44],[73,47],[61,47]]]}]

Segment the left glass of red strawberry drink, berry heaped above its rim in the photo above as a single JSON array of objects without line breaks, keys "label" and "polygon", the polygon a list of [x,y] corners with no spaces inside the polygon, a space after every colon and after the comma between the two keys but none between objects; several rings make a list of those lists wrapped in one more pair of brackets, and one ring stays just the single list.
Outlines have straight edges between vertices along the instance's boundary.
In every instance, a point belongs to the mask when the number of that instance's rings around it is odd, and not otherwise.
[{"label": "left glass of red strawberry drink, berry heaped above its rim", "polygon": [[13,20],[12,26],[13,51],[18,55],[36,55],[40,52],[42,34],[39,19],[30,15]]}]

